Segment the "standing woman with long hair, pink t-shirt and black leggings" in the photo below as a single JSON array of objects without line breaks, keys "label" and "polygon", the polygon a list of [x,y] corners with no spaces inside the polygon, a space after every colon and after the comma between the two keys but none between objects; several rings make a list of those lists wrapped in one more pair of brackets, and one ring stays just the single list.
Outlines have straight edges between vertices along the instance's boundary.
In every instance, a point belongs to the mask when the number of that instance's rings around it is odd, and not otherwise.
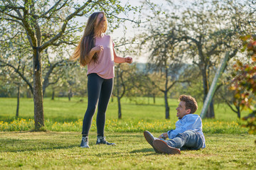
[{"label": "standing woman with long hair, pink t-shirt and black leggings", "polygon": [[107,18],[104,12],[95,12],[89,17],[80,44],[70,60],[80,60],[81,67],[87,65],[88,105],[82,122],[82,142],[80,147],[89,147],[88,133],[92,117],[97,109],[96,145],[115,145],[105,140],[105,115],[113,89],[114,62],[132,63],[132,57],[117,57],[114,42],[105,35]]}]

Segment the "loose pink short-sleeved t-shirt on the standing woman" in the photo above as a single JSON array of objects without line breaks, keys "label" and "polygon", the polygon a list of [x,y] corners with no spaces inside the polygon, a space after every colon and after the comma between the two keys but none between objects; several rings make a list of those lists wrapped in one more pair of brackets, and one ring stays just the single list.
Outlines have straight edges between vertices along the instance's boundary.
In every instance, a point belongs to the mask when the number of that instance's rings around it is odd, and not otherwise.
[{"label": "loose pink short-sleeved t-shirt on the standing woman", "polygon": [[87,64],[87,75],[90,73],[97,73],[103,79],[112,79],[114,77],[114,42],[110,35],[103,35],[103,37],[95,38],[95,46],[102,45],[103,50],[97,52],[98,62],[93,60]]}]

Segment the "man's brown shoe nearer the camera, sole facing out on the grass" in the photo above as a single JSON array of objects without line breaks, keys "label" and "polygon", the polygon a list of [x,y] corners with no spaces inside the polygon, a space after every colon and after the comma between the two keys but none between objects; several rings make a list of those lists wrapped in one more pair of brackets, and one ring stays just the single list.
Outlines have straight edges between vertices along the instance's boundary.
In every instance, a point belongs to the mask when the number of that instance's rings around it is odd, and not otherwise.
[{"label": "man's brown shoe nearer the camera, sole facing out on the grass", "polygon": [[158,149],[162,153],[166,154],[181,154],[180,149],[177,149],[175,147],[170,147],[169,145],[164,142],[164,140],[154,140],[153,142],[154,147]]}]

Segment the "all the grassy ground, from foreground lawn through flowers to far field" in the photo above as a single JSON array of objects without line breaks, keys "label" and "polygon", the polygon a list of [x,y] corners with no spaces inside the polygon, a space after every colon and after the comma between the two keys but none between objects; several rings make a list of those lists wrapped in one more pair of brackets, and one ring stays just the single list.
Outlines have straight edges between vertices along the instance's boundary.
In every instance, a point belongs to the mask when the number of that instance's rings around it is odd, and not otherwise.
[{"label": "all the grassy ground, from foreground lawn through flowers to far field", "polygon": [[[0,169],[256,169],[255,135],[228,106],[215,106],[215,119],[203,120],[206,149],[181,155],[156,154],[143,131],[155,136],[175,127],[176,99],[169,99],[170,120],[164,119],[164,101],[137,98],[122,100],[122,119],[117,101],[110,101],[105,135],[116,146],[96,146],[95,118],[90,130],[90,149],[82,149],[80,131],[86,98],[44,99],[46,132],[33,130],[33,98],[21,98],[15,118],[16,98],[0,98]],[[200,114],[202,104],[198,103]],[[242,116],[247,115],[243,112]]]}]

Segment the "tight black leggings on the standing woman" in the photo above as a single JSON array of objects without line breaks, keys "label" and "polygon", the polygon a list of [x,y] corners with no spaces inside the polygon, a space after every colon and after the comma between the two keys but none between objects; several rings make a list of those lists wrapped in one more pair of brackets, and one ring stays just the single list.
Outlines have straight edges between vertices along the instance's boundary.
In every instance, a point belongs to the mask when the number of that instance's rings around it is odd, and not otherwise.
[{"label": "tight black leggings on the standing woman", "polygon": [[104,136],[106,111],[112,94],[113,80],[103,79],[95,73],[88,75],[88,106],[84,120],[82,121],[82,135],[88,135],[92,125],[92,116],[95,113],[97,102],[99,101],[96,120],[97,135]]}]

